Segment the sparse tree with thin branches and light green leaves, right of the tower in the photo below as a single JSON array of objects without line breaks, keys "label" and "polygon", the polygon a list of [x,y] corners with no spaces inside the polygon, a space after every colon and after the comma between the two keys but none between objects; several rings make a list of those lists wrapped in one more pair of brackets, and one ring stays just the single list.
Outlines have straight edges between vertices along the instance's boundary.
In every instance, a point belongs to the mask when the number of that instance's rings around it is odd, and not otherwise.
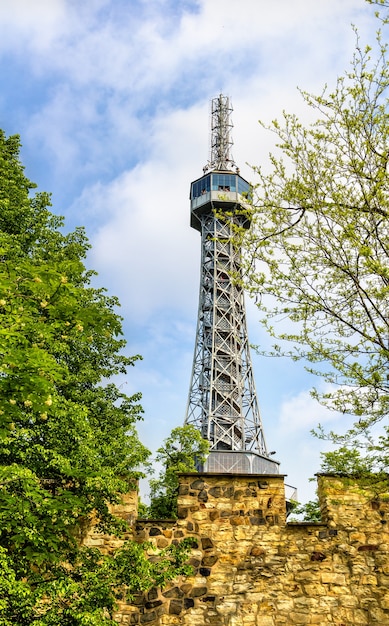
[{"label": "sparse tree with thin branches and light green leaves, right of the tower", "polygon": [[374,49],[356,39],[333,90],[302,92],[316,121],[284,112],[266,127],[278,152],[270,173],[254,168],[241,234],[272,354],[306,360],[330,383],[314,395],[356,418],[354,438],[389,410],[389,66],[380,34]]}]

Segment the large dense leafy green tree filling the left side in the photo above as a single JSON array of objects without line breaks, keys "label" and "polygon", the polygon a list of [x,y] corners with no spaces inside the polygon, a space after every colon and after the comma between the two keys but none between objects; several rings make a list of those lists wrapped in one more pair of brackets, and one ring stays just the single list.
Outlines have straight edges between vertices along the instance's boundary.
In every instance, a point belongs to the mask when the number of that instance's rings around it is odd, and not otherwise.
[{"label": "large dense leafy green tree filling the left side", "polygon": [[183,571],[186,546],[150,563],[148,546],[103,558],[80,545],[92,518],[127,528],[109,507],[149,453],[139,394],[104,382],[137,357],[116,298],[91,284],[83,229],[62,233],[19,149],[0,132],[0,625],[109,624],[116,592]]}]

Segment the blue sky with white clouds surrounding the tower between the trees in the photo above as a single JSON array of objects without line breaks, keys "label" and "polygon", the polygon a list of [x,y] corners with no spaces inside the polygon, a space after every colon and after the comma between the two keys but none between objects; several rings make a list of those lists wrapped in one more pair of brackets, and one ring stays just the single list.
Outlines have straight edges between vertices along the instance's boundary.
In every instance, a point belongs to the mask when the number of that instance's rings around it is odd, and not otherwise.
[{"label": "blue sky with white clouds surrounding the tower between the trees", "polygon": [[[141,391],[152,450],[182,425],[193,357],[200,238],[189,186],[208,159],[210,99],[232,99],[233,156],[266,167],[258,124],[283,109],[309,121],[297,87],[320,92],[349,65],[363,0],[1,0],[0,127],[21,135],[26,173],[50,191],[68,229],[86,227],[98,284],[119,297],[129,354],[117,382]],[[252,343],[269,339],[246,301]],[[302,364],[255,354],[269,449],[300,500],[320,467],[318,422],[340,418],[310,398]]]}]

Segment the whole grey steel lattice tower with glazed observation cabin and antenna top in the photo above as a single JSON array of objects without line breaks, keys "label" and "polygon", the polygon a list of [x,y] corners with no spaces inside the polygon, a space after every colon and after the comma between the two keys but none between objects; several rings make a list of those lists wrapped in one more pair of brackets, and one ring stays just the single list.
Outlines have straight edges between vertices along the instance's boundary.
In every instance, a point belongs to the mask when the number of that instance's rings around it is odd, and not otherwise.
[{"label": "whole grey steel lattice tower with glazed observation cabin and antenna top", "polygon": [[210,160],[191,184],[191,226],[201,233],[196,344],[186,411],[210,442],[207,472],[278,473],[263,433],[250,358],[241,251],[234,226],[250,228],[250,184],[231,156],[229,98],[212,100]]}]

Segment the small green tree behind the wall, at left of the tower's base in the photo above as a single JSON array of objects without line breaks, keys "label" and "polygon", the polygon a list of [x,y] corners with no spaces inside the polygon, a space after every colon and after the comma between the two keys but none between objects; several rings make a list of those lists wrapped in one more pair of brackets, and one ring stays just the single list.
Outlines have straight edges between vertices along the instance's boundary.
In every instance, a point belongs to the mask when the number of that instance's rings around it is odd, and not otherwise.
[{"label": "small green tree behind the wall, at left of the tower's base", "polygon": [[150,505],[147,517],[177,517],[178,474],[196,472],[209,451],[209,442],[192,424],[178,426],[158,448],[155,460],[162,463],[158,478],[150,480]]}]

